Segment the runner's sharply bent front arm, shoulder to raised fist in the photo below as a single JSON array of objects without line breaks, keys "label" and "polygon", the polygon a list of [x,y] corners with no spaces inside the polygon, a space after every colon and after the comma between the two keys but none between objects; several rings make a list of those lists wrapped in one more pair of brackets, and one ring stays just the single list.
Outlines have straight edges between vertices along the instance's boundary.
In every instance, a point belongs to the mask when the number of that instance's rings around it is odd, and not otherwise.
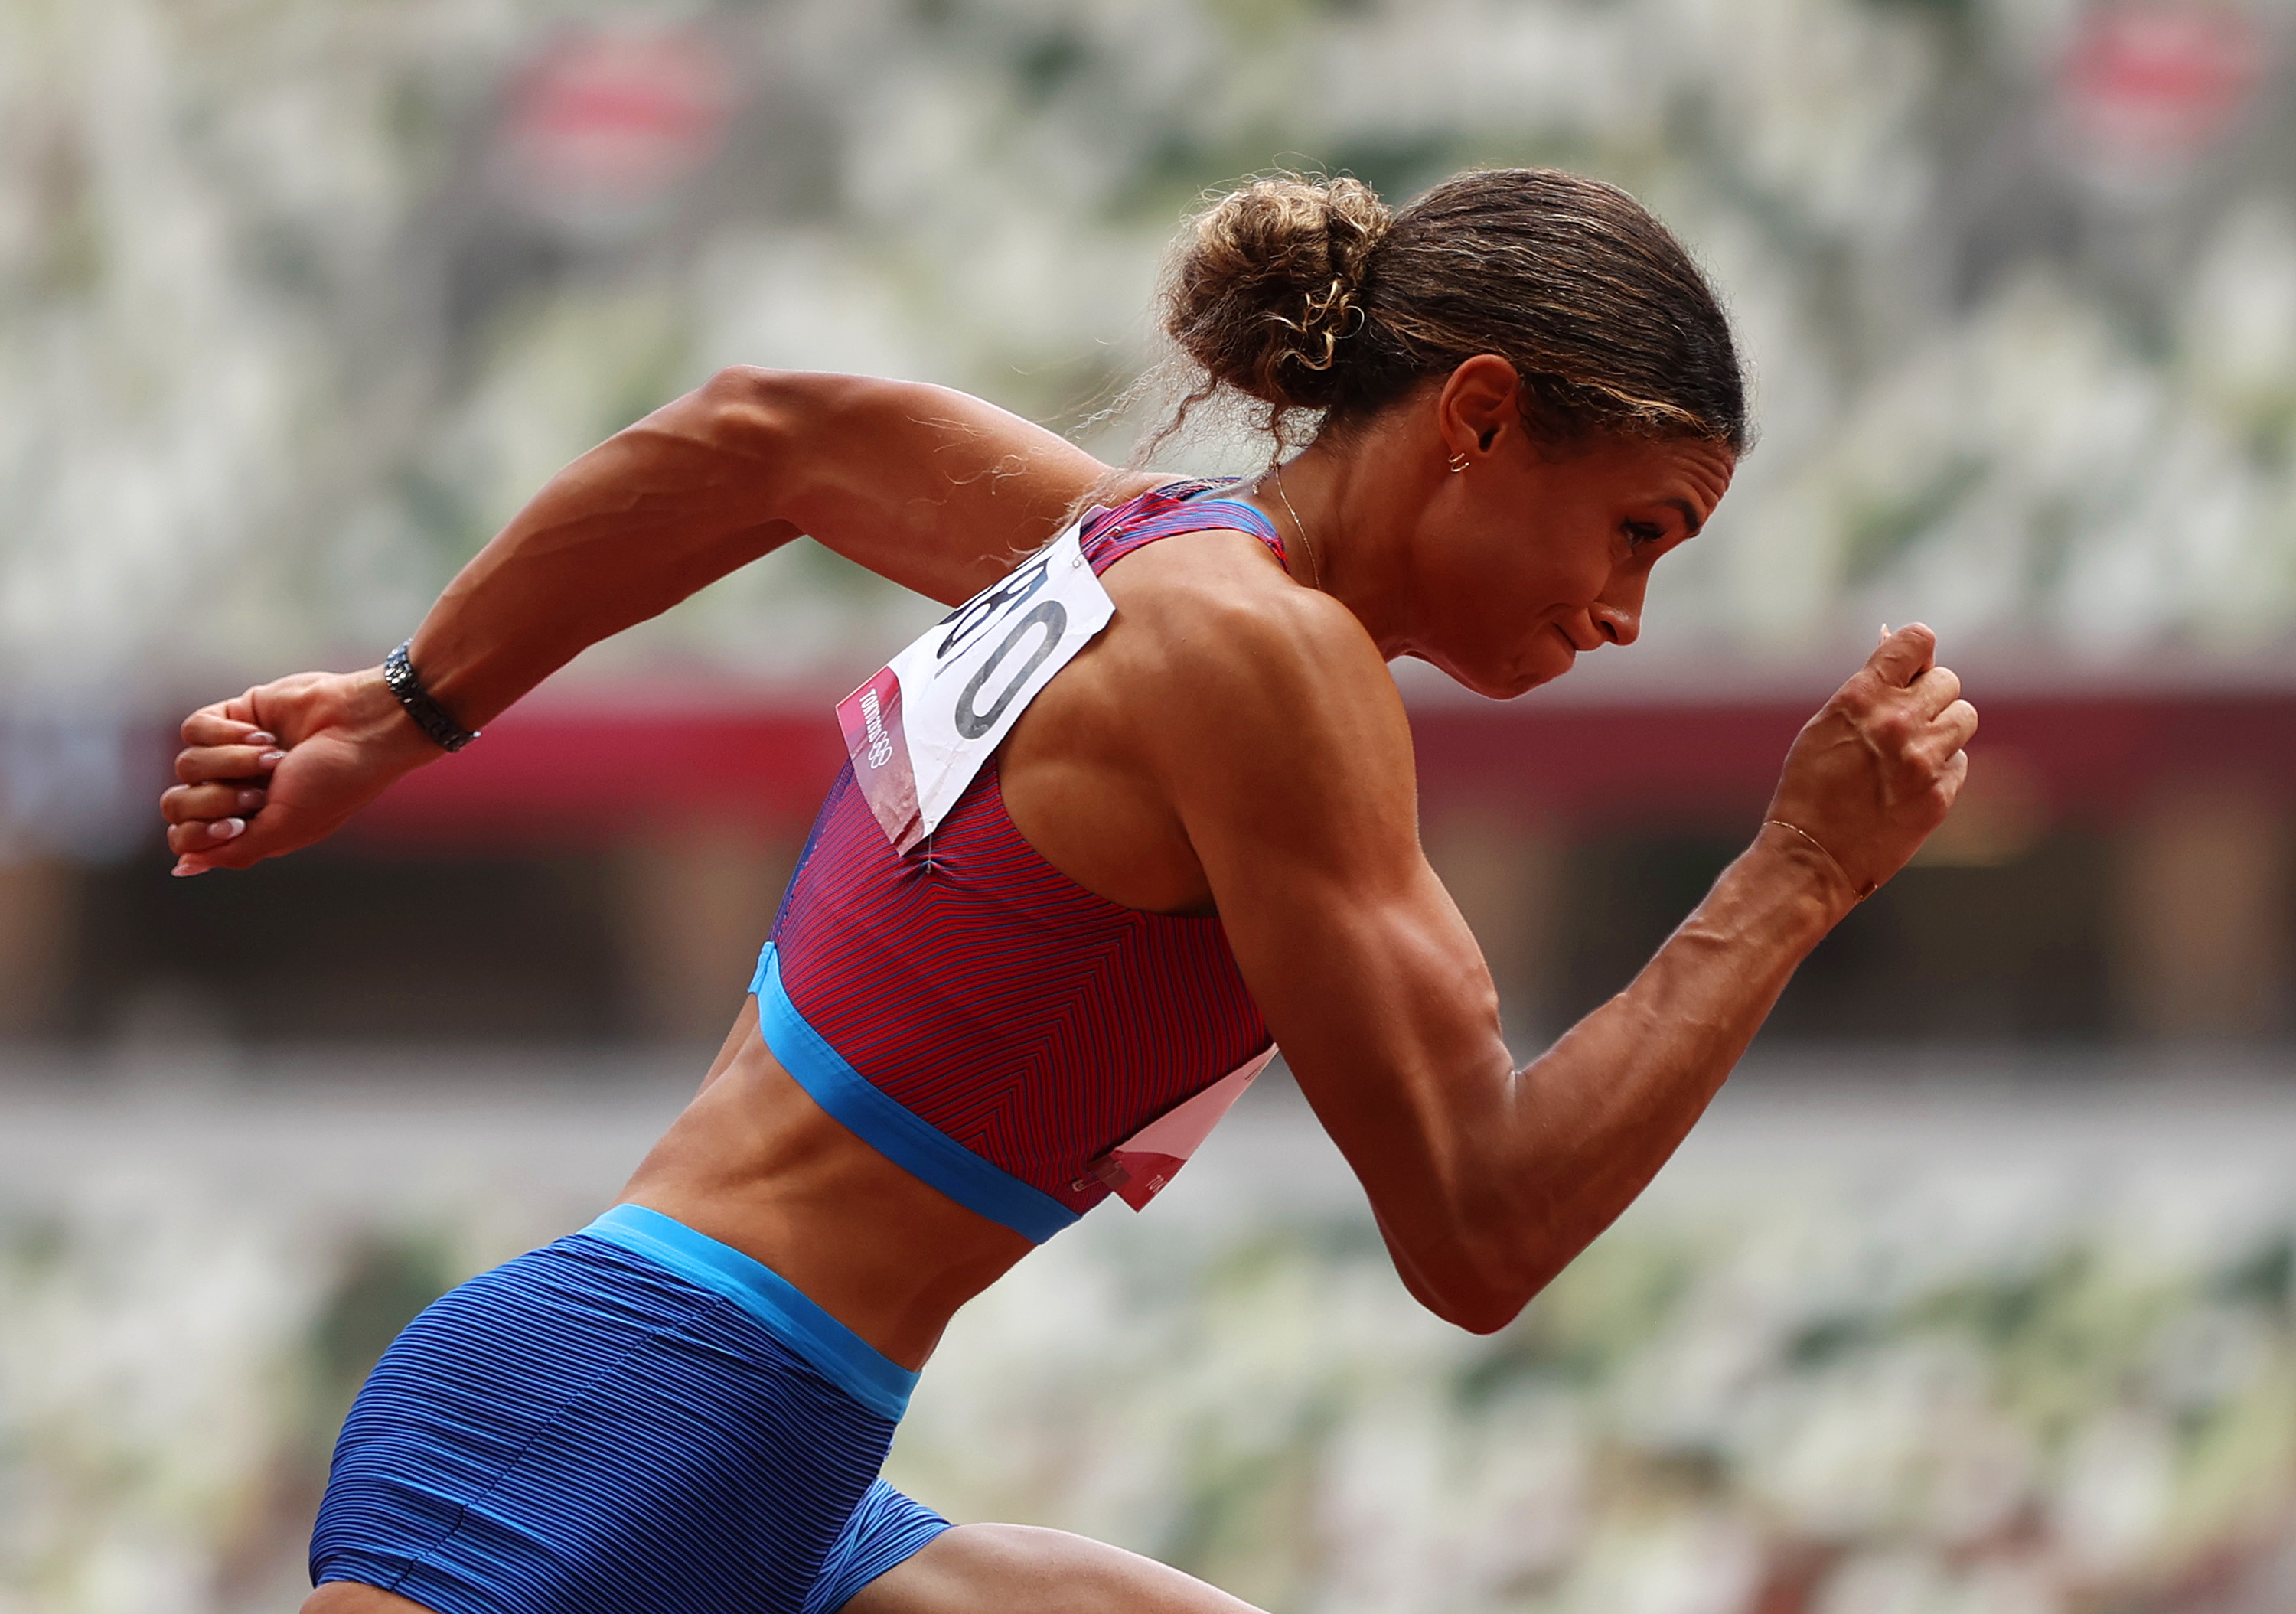
[{"label": "runner's sharply bent front arm, shoulder to raised fist", "polygon": [[1290,620],[1233,608],[1205,629],[1219,654],[1176,657],[1157,774],[1403,1281],[1497,1329],[1658,1173],[1857,889],[1936,829],[1977,716],[1929,629],[1883,643],[1773,801],[1825,849],[1763,827],[1632,985],[1515,1070],[1481,950],[1419,852],[1378,652],[1306,590],[1274,613]]}]

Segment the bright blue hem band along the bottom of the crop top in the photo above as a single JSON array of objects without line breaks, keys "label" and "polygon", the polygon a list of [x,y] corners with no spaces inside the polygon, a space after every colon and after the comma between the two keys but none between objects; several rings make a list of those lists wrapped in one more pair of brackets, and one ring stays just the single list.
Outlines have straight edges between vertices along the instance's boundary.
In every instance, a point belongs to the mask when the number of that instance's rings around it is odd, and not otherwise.
[{"label": "bright blue hem band along the bottom of the crop top", "polygon": [[758,994],[758,1033],[781,1068],[797,1077],[797,1086],[845,1130],[912,1178],[1033,1244],[1077,1221],[1077,1212],[1052,1194],[990,1164],[845,1063],[845,1056],[797,1012],[797,1003],[781,985],[781,957],[771,944],[758,957],[758,976],[748,990]]}]

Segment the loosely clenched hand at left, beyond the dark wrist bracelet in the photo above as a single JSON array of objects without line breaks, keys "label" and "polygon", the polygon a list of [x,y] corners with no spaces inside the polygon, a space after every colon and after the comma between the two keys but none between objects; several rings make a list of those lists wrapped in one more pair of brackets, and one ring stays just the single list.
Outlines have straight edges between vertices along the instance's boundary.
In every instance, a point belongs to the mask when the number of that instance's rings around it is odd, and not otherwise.
[{"label": "loosely clenched hand at left, beyond the dark wrist bracelet", "polygon": [[158,799],[177,875],[248,868],[335,833],[395,778],[445,755],[381,668],[296,673],[184,719]]}]

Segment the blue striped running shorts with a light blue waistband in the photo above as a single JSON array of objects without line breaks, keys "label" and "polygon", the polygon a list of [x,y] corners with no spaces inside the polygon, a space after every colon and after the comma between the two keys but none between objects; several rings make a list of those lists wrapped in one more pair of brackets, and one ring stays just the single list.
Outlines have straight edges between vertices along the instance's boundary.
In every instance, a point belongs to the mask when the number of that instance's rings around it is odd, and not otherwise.
[{"label": "blue striped running shorts with a light blue waistband", "polygon": [[948,1529],[877,1479],[914,1382],[758,1260],[615,1205],[383,1352],[310,1577],[436,1614],[829,1614]]}]

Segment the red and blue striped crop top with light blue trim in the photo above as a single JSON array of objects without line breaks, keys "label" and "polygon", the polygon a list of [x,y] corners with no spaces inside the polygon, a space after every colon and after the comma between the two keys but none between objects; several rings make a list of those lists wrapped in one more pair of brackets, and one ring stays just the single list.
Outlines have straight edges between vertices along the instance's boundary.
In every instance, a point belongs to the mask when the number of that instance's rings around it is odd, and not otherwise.
[{"label": "red and blue striped crop top with light blue trim", "polygon": [[[1267,517],[1212,487],[1093,514],[1093,572],[1208,528],[1281,558]],[[751,990],[767,1047],[822,1109],[1035,1242],[1109,1194],[1091,1162],[1267,1047],[1219,918],[1068,879],[1013,827],[994,762],[907,856],[847,765]]]}]

